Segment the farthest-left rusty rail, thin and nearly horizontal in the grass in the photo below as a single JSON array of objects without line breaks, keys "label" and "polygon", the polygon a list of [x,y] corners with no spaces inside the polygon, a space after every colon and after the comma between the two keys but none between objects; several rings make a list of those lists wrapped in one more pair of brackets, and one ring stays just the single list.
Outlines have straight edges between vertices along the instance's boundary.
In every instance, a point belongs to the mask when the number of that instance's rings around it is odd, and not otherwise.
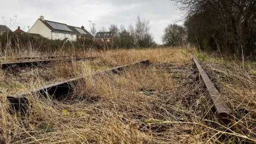
[{"label": "farthest-left rusty rail, thin and nearly horizontal in the grass", "polygon": [[[73,58],[73,59],[77,61],[81,61],[81,60],[93,60],[96,58],[98,57]],[[13,66],[18,66],[18,67],[37,66],[37,65],[43,65],[50,62],[61,61],[61,60],[62,59],[2,63],[1,69],[12,68]],[[68,60],[68,62],[71,61],[71,59],[63,59],[63,60]]]}]

